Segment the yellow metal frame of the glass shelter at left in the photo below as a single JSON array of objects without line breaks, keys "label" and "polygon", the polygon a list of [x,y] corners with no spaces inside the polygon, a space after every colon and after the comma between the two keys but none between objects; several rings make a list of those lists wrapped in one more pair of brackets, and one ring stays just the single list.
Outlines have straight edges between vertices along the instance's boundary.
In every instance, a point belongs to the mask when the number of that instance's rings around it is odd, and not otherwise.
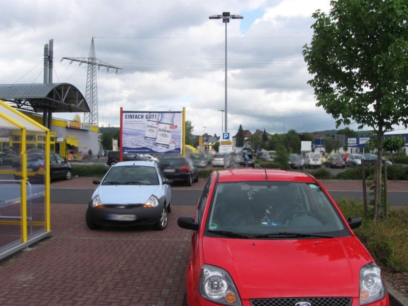
[{"label": "yellow metal frame of the glass shelter at left", "polygon": [[[3,107],[9,109],[11,112],[15,113],[17,116],[21,117],[24,120],[29,121],[30,123],[34,124],[37,126],[40,130],[43,130],[45,132],[45,227],[46,231],[49,232],[51,230],[51,222],[50,222],[50,190],[49,190],[49,154],[50,154],[50,140],[49,140],[49,134],[50,131],[43,125],[39,124],[35,120],[31,119],[30,117],[20,113],[16,109],[12,108],[11,106],[7,105],[4,103],[2,100],[0,100],[0,105]],[[28,234],[27,234],[27,128],[21,124],[20,122],[17,122],[16,120],[6,116],[3,113],[0,113],[0,117],[4,118],[5,120],[11,122],[15,126],[19,127],[21,129],[21,223],[17,222],[18,224],[21,225],[21,231],[22,231],[22,242],[25,243],[28,241]],[[42,223],[42,222],[40,222]]]}]

